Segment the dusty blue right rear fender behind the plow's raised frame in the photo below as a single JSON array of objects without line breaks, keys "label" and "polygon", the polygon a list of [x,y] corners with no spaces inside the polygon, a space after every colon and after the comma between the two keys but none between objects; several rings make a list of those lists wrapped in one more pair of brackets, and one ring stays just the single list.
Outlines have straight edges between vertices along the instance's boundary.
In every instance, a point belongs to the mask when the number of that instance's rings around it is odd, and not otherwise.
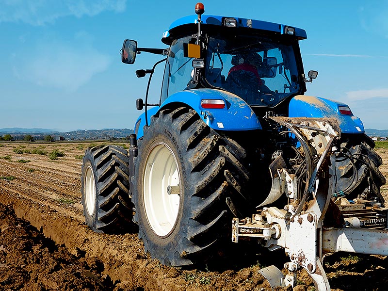
[{"label": "dusty blue right rear fender behind the plow's raised frame", "polygon": [[336,118],[343,133],[364,133],[362,121],[355,115],[345,115],[339,112],[339,106],[348,105],[337,101],[298,95],[291,99],[289,105],[290,117]]}]

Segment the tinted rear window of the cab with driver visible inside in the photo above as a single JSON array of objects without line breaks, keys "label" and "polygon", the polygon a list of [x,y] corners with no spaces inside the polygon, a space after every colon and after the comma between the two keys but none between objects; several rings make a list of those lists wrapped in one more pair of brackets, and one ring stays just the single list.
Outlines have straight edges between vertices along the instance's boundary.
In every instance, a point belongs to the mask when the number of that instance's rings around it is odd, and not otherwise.
[{"label": "tinted rear window of the cab with driver visible inside", "polygon": [[205,77],[250,105],[275,106],[299,91],[291,45],[246,35],[210,37]]}]

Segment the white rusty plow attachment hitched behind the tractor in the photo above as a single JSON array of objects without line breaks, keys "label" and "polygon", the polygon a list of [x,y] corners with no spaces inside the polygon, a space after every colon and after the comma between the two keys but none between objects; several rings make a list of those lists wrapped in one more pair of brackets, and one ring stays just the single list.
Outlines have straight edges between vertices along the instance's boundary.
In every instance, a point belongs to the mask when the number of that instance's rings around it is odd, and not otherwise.
[{"label": "white rusty plow attachment hitched behind the tractor", "polygon": [[[387,209],[376,201],[355,199],[350,203],[334,197],[336,152],[340,150],[335,119],[270,118],[297,138],[305,159],[304,176],[302,171],[291,173],[278,155],[270,165],[270,194],[252,217],[233,219],[232,241],[256,239],[269,250],[285,250],[290,258],[285,264],[287,275],[275,266],[260,270],[273,290],[295,286],[296,271],[304,268],[318,291],[328,291],[322,262],[326,254],[388,255]],[[304,187],[298,187],[300,179]],[[284,195],[287,203],[279,207],[278,199]]]}]

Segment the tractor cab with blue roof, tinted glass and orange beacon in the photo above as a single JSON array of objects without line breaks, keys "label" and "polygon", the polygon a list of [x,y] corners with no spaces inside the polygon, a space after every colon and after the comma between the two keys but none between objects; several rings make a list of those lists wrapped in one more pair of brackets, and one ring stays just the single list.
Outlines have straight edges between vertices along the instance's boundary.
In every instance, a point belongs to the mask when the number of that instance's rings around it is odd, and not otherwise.
[{"label": "tractor cab with blue roof, tinted glass and orange beacon", "polygon": [[[203,6],[195,11],[197,16],[180,18],[163,33],[162,42],[169,49],[153,51],[167,55],[161,104],[177,92],[209,88],[268,109],[306,92],[298,45],[307,38],[304,30],[246,18],[202,16]],[[132,55],[128,63],[134,62],[136,49],[134,41],[124,43],[124,63],[128,54]],[[312,78],[316,74],[309,72]]]}]

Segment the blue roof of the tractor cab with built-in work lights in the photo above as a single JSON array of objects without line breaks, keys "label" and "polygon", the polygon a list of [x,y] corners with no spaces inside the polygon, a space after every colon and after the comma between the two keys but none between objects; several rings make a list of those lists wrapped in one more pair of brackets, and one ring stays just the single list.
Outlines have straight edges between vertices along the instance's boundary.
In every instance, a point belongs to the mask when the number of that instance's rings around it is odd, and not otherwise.
[{"label": "blue roof of the tractor cab with built-in work lights", "polygon": [[[294,29],[294,32],[291,35],[291,37],[293,36],[297,40],[302,40],[307,38],[306,31],[300,28],[279,24],[279,23],[248,19],[248,18],[240,18],[240,17],[202,15],[201,25],[210,24],[210,25],[217,25],[220,27],[226,27],[225,26],[226,19],[236,19],[237,27],[228,27],[228,29],[231,29],[231,30],[233,29],[235,30],[236,28],[246,28],[246,29],[252,29],[252,30],[265,31],[267,33],[273,32],[274,34],[290,34],[288,33],[288,30],[289,28],[291,28],[291,30]],[[184,30],[185,27],[193,26],[193,25],[198,25],[198,19],[196,15],[179,18],[178,20],[174,21],[170,25],[170,28],[168,29],[168,31],[165,31],[163,33],[162,42],[166,45],[170,45],[172,41],[181,34],[182,30]]]}]

